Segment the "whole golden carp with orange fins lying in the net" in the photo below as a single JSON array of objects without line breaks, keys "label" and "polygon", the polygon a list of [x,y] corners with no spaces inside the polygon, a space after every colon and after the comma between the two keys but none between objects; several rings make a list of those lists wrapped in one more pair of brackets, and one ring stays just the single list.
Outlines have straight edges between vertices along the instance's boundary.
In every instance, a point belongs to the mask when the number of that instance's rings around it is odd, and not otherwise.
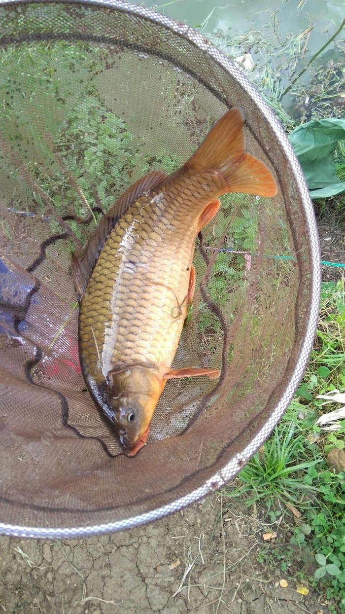
[{"label": "whole golden carp with orange fins lying in the net", "polygon": [[277,192],[265,163],[244,150],[244,122],[242,109],[230,109],[176,172],[131,185],[72,255],[83,378],[127,456],[147,443],[169,379],[220,376],[171,365],[195,292],[196,237],[219,196]]}]

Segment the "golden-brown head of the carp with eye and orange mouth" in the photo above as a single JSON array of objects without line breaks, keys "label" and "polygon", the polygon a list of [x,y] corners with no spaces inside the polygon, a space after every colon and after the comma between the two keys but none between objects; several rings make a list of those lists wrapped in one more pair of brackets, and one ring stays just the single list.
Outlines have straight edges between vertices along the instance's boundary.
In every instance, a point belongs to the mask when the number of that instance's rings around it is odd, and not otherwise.
[{"label": "golden-brown head of the carp with eye and orange mouth", "polygon": [[141,365],[108,373],[107,401],[127,456],[134,456],[145,445],[163,385],[153,371]]}]

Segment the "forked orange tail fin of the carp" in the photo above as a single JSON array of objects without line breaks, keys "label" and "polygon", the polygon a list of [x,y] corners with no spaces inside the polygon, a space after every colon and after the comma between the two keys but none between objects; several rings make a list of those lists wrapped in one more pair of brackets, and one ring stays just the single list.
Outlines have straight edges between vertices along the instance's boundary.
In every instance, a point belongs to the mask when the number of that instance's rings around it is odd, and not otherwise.
[{"label": "forked orange tail fin of the carp", "polygon": [[227,184],[224,192],[274,196],[277,185],[271,171],[262,161],[244,151],[243,125],[242,109],[227,111],[186,166],[218,171]]}]

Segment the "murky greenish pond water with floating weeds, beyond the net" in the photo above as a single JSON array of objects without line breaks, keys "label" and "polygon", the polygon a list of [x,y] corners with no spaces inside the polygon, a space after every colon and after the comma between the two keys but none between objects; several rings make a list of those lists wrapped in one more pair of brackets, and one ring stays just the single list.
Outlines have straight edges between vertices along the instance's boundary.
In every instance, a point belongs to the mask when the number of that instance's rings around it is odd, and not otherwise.
[{"label": "murky greenish pond water with floating weeds, beyond the net", "polygon": [[[247,72],[261,90],[295,117],[308,118],[309,101],[339,93],[344,64],[343,0],[170,0],[145,6],[185,21],[234,59],[250,53]],[[328,95],[328,96],[327,96]],[[301,109],[301,106],[306,109]],[[333,105],[334,107],[334,105]],[[304,113],[305,111],[305,113]]]}]

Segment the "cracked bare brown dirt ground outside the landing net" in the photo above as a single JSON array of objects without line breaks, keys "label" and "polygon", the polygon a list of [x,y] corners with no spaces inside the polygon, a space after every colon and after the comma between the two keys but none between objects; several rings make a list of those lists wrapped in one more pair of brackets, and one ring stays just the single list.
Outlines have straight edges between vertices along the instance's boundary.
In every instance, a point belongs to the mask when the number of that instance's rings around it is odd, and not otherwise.
[{"label": "cracked bare brown dirt ground outside the landing net", "polygon": [[[344,228],[319,223],[322,258],[345,262]],[[323,278],[342,270],[325,266]],[[45,541],[0,537],[0,612],[8,614],[328,614],[317,593],[282,588],[257,562],[263,533],[244,507],[221,514],[221,496],[119,534]]]}]

